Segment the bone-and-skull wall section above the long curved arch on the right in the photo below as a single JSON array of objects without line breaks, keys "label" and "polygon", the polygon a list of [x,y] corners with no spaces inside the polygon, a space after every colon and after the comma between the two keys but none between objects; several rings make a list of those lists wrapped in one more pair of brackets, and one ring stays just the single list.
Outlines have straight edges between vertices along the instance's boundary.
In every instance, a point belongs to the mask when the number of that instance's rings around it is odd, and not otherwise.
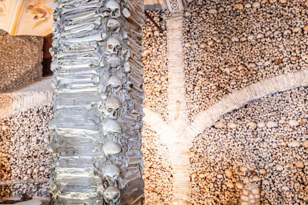
[{"label": "bone-and-skull wall section above the long curved arch on the right", "polygon": [[189,119],[228,93],[308,66],[305,0],[194,1],[184,12]]}]

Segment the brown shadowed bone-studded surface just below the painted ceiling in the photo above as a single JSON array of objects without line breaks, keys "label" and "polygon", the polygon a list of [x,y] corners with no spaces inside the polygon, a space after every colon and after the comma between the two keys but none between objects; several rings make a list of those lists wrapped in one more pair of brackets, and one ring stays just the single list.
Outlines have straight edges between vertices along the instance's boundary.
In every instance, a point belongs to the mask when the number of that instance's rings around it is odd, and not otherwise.
[{"label": "brown shadowed bone-studded surface just below the painted ceiling", "polygon": [[43,37],[12,37],[0,31],[0,92],[42,76]]}]

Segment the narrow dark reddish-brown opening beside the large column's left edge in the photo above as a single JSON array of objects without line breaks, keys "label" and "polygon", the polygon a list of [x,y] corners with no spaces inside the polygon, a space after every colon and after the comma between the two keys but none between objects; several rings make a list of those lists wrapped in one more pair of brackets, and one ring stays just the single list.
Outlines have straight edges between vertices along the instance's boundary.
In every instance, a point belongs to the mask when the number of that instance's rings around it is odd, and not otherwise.
[{"label": "narrow dark reddish-brown opening beside the large column's left edge", "polygon": [[52,34],[49,34],[48,36],[44,37],[43,77],[52,75],[52,71],[50,70],[52,57],[51,54],[49,53],[49,49],[52,47],[51,43],[52,43]]}]

